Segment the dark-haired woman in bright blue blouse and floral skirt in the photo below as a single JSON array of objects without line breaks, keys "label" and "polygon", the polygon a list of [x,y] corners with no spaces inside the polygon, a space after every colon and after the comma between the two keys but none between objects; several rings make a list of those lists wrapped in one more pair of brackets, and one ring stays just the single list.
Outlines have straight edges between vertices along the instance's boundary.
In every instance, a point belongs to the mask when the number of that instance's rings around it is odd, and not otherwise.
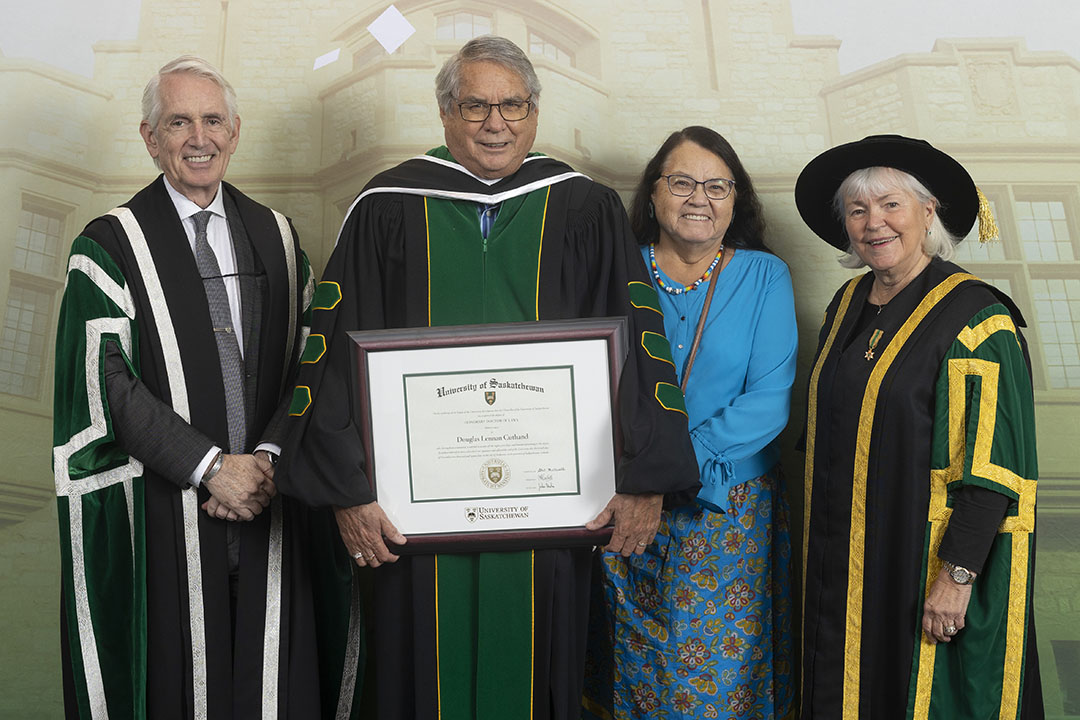
[{"label": "dark-haired woman in bright blue blouse and floral skirt", "polygon": [[664,511],[644,555],[604,555],[613,715],[783,718],[791,540],[777,436],[795,379],[791,276],[765,246],[739,157],[706,127],[661,146],[631,221],[659,290],[702,490]]}]

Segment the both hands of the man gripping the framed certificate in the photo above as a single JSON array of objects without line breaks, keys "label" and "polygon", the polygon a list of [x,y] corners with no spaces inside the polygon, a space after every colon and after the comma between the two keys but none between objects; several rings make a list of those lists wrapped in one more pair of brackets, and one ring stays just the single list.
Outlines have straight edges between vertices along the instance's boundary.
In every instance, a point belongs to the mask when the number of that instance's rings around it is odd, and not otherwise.
[{"label": "both hands of the man gripping the framed certificate", "polygon": [[[621,553],[624,557],[630,557],[631,554],[640,555],[652,542],[660,527],[663,502],[662,494],[617,493],[599,515],[585,524],[585,528],[599,530],[615,520],[615,530],[611,532],[607,551]],[[390,552],[386,541],[404,545],[406,539],[379,507],[379,503],[335,507],[334,515],[346,549],[352,555],[356,565],[378,568],[384,562],[397,560],[399,556]]]}]

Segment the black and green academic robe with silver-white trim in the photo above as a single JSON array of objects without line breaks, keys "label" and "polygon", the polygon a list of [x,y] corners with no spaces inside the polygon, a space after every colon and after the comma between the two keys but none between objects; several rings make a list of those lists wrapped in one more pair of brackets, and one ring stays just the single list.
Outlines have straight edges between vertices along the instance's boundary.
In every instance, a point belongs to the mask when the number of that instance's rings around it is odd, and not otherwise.
[{"label": "black and green academic robe with silver-white trim", "polygon": [[[242,222],[249,239],[252,285],[260,295],[252,304],[261,309],[251,325],[257,332],[246,338],[248,349],[255,342],[261,349],[257,361],[248,354],[249,452],[291,391],[312,286],[287,218],[227,184],[221,192],[239,213],[230,223]],[[350,567],[345,556],[342,579],[328,553],[313,554],[320,566],[308,553],[320,540],[336,540],[336,528],[282,497],[238,522],[233,625],[226,521],[200,510],[205,488],[144,466],[117,441],[105,392],[108,343],[156,397],[228,447],[203,282],[160,177],[93,220],[68,260],[53,450],[68,717],[311,718],[320,705],[334,717],[338,690],[348,685],[342,677],[356,675],[357,653],[351,674],[343,670],[345,640],[335,640],[341,652],[320,666],[315,638],[348,628]],[[312,575],[336,609],[316,612]],[[322,683],[320,671],[328,677]],[[350,694],[347,710],[351,701]]]}]

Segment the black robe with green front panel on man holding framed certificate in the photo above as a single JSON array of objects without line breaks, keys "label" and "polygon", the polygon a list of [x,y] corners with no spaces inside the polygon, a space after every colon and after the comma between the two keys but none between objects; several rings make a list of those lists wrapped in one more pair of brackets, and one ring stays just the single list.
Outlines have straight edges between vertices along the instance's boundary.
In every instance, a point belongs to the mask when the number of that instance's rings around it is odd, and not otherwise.
[{"label": "black robe with green front panel on man holding framed certificate", "polygon": [[[486,240],[477,203],[499,204]],[[377,176],[348,213],[313,310],[285,492],[315,505],[374,500],[347,331],[610,315],[629,316],[631,337],[617,488],[697,492],[663,318],[625,210],[563,163],[534,155],[487,185],[438,148]],[[369,572],[380,720],[580,715],[588,548],[408,556]]]}]

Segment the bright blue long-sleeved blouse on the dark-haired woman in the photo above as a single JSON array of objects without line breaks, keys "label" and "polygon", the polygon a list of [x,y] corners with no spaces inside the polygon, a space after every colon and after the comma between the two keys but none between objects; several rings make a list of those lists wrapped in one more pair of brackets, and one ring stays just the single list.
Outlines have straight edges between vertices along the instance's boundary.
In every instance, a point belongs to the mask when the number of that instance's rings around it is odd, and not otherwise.
[{"label": "bright blue long-sleeved blouse on the dark-haired woman", "polygon": [[[648,246],[642,252],[648,262]],[[659,272],[665,285],[678,286]],[[717,286],[687,383],[686,407],[701,470],[698,501],[725,512],[732,485],[766,473],[780,459],[775,439],[791,409],[798,330],[784,261],[737,249],[719,275],[693,291],[672,295],[658,287],[679,382],[710,282]]]}]

